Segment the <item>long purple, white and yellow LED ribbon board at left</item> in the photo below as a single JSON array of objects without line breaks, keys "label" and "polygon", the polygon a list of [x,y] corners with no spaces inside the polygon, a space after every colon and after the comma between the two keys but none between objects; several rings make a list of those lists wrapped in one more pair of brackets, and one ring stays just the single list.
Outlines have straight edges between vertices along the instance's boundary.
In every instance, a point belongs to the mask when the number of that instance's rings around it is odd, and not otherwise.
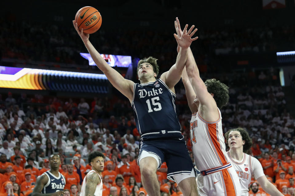
[{"label": "long purple, white and yellow LED ribbon board at left", "polygon": [[72,92],[108,92],[104,74],[0,66],[0,87]]}]

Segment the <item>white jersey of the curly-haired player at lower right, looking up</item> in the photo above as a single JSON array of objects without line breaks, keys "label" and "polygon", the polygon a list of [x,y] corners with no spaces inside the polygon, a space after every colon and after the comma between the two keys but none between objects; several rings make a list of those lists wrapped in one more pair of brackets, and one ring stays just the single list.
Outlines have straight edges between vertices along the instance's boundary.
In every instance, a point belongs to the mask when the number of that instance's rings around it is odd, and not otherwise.
[{"label": "white jersey of the curly-haired player at lower right, looking up", "polygon": [[248,186],[251,182],[252,175],[254,175],[255,179],[264,176],[260,162],[246,153],[243,153],[243,158],[240,161],[232,158],[229,152],[227,152],[227,155],[240,179],[242,196],[248,196]]}]

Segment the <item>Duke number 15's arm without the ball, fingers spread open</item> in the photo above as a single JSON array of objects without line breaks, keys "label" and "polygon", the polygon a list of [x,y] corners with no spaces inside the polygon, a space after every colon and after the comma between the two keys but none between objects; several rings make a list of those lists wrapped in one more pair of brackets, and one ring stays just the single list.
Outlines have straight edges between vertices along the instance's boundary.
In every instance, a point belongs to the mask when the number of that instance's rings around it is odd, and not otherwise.
[{"label": "Duke number 15's arm without the ball, fingers spread open", "polygon": [[198,37],[191,38],[198,29],[195,28],[195,25],[192,25],[191,28],[187,31],[188,25],[185,25],[183,29],[183,34],[181,36],[174,34],[174,37],[180,47],[180,51],[176,58],[176,63],[170,68],[169,71],[162,74],[161,79],[166,83],[166,85],[173,89],[176,83],[180,80],[182,70],[185,66],[187,60],[187,48],[190,47],[191,42],[198,39]]}]

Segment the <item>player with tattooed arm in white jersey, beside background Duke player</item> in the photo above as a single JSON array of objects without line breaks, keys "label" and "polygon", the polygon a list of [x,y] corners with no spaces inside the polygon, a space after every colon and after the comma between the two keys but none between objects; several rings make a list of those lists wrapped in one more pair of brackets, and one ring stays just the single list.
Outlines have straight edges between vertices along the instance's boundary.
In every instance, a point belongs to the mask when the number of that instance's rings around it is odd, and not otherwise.
[{"label": "player with tattooed arm in white jersey, beside background Duke player", "polygon": [[88,162],[92,170],[85,176],[80,196],[102,196],[101,172],[104,171],[104,155],[94,151],[88,155]]}]

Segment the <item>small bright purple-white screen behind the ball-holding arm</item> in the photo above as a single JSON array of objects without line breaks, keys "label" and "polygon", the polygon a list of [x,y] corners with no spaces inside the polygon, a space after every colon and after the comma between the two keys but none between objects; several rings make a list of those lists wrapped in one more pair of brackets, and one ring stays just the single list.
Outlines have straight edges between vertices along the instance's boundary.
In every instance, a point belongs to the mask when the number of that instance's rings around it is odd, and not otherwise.
[{"label": "small bright purple-white screen behind the ball-holding arm", "polygon": [[[89,61],[89,65],[96,66],[95,62],[93,61],[92,57],[89,53],[82,53],[80,55]],[[131,56],[123,56],[123,55],[104,55],[100,54],[102,58],[111,66],[117,67],[129,67],[132,65]]]}]

